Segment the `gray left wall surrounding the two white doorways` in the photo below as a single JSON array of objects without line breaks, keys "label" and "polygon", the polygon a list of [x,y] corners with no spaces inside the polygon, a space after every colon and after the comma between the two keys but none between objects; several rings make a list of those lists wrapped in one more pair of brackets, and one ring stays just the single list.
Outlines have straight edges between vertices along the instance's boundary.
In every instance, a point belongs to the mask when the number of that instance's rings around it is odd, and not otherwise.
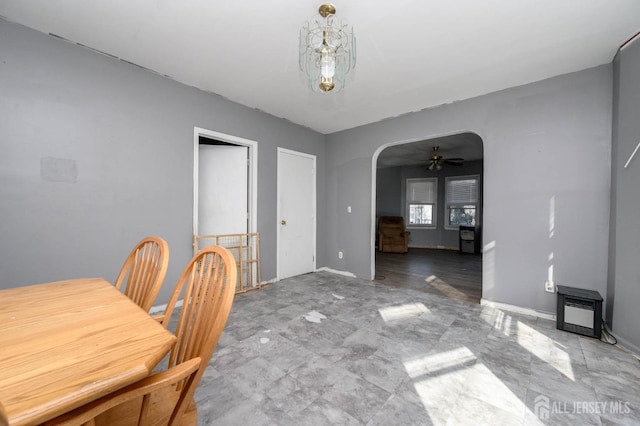
[{"label": "gray left wall surrounding the two white doorways", "polygon": [[0,19],[0,288],[113,281],[154,234],[171,248],[164,303],[192,255],[195,126],[258,142],[262,278],[275,278],[277,147],[318,156],[321,209],[323,135]]}]

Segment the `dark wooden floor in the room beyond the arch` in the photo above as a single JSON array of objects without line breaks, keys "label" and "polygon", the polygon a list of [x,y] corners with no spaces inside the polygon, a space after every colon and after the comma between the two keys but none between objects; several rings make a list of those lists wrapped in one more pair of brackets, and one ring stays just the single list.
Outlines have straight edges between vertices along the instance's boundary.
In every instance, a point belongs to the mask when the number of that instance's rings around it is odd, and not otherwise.
[{"label": "dark wooden floor in the room beyond the arch", "polygon": [[375,280],[480,303],[482,255],[424,248],[410,248],[409,253],[376,251]]}]

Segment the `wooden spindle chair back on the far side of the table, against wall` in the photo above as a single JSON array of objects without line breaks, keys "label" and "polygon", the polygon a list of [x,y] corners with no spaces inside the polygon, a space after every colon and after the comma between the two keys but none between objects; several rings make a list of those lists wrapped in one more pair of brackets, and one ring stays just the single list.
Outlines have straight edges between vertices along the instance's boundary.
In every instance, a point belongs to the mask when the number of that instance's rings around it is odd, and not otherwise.
[{"label": "wooden spindle chair back on the far side of the table, against wall", "polygon": [[115,286],[124,284],[124,294],[149,311],[160,291],[169,265],[169,245],[160,237],[143,238],[122,265]]}]

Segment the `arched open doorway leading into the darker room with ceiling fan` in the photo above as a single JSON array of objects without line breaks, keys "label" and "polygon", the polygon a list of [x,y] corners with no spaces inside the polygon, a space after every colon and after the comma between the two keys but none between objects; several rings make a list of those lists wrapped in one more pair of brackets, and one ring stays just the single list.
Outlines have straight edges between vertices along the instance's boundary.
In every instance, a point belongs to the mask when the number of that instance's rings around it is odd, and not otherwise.
[{"label": "arched open doorway leading into the darker room with ceiling fan", "polygon": [[[470,132],[382,147],[374,171],[375,280],[480,302],[483,151]],[[380,244],[381,217],[402,221],[405,248]]]}]

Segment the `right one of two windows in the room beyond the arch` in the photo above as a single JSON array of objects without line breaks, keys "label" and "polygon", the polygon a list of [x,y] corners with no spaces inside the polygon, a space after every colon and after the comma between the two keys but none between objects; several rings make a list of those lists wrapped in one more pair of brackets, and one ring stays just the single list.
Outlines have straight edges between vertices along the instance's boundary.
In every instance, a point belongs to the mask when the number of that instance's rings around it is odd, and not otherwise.
[{"label": "right one of two windows in the room beyond the arch", "polygon": [[480,177],[477,175],[446,178],[448,228],[476,225],[479,180]]}]

